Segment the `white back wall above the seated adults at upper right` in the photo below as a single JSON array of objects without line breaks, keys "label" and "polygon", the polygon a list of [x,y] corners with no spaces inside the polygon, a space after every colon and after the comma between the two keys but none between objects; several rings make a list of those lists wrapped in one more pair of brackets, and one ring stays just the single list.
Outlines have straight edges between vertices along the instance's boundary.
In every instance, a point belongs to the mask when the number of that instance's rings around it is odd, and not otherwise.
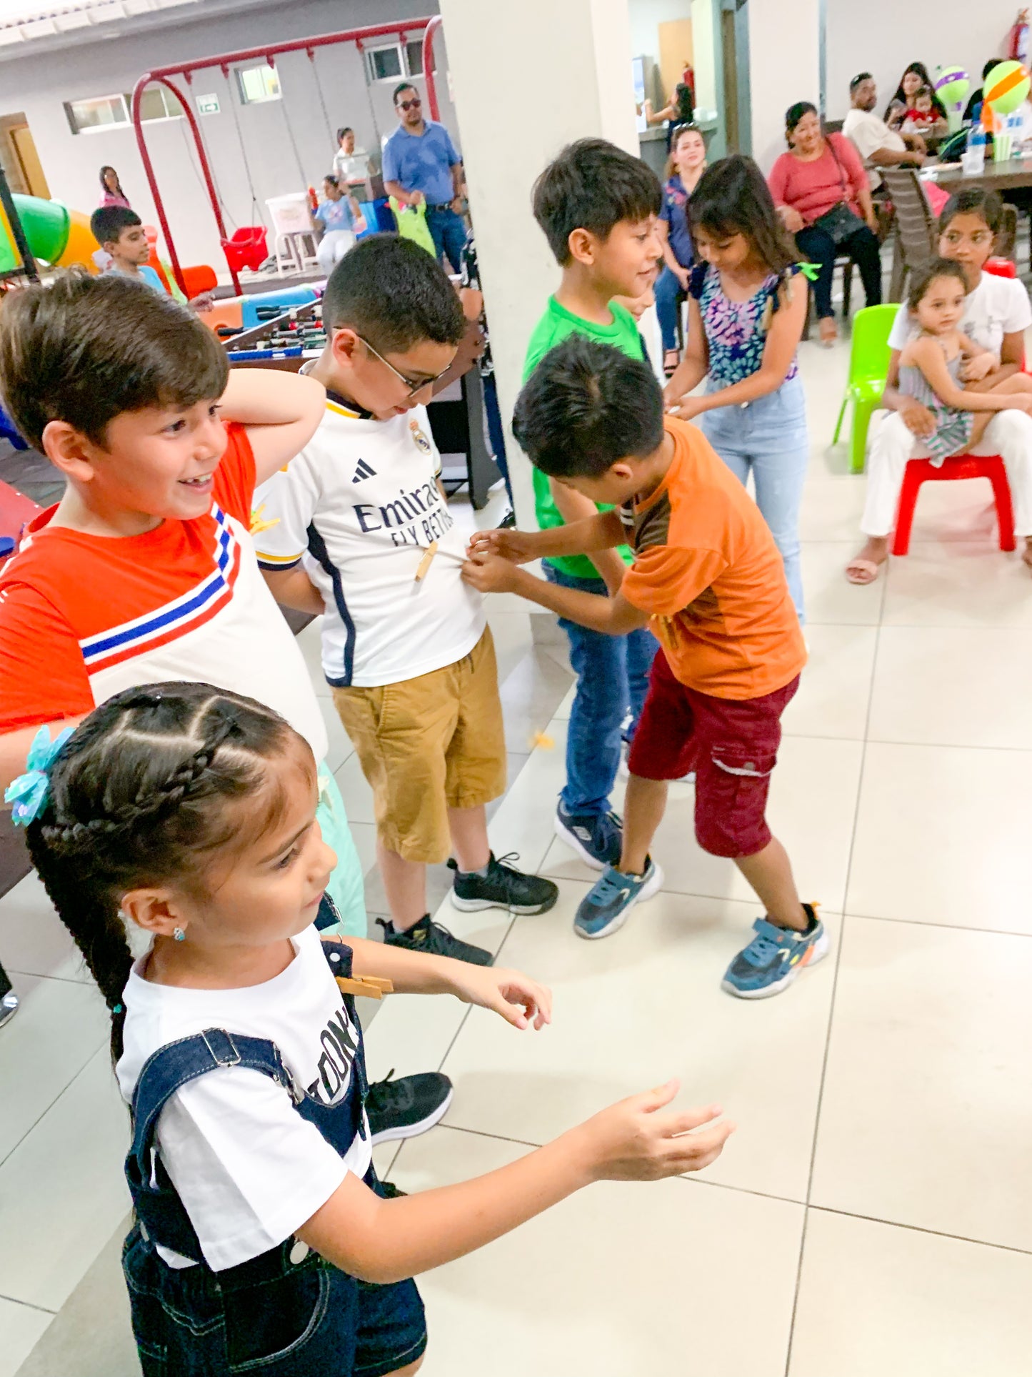
[{"label": "white back wall above the seated adults at upper right", "polygon": [[[827,114],[841,120],[849,109],[849,81],[870,72],[878,81],[878,113],[885,110],[903,69],[923,62],[936,76],[937,66],[959,65],[981,84],[982,66],[1002,56],[1014,23],[1014,0],[826,0],[827,4]],[[816,103],[816,94],[797,95]]]}]

